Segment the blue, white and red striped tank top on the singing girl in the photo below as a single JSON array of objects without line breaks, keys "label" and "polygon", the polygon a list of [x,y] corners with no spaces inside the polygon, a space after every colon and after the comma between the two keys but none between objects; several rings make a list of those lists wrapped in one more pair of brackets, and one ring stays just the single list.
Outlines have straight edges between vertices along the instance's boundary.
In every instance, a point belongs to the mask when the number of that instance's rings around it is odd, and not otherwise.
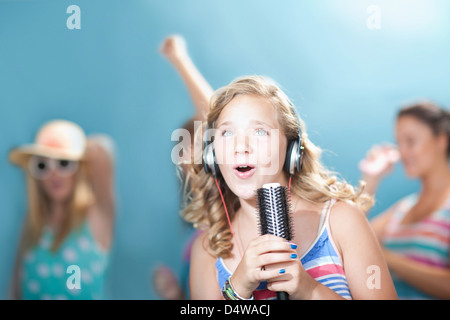
[{"label": "blue, white and red striped tank top on the singing girl", "polygon": [[[300,261],[312,278],[350,300],[352,295],[345,277],[342,259],[329,231],[329,213],[335,202],[332,199],[325,203],[320,217],[317,237],[306,253],[300,257]],[[222,288],[232,273],[220,257],[216,261],[216,269],[219,286]],[[260,283],[253,295],[255,300],[276,299],[276,293],[267,289],[266,281]]]}]

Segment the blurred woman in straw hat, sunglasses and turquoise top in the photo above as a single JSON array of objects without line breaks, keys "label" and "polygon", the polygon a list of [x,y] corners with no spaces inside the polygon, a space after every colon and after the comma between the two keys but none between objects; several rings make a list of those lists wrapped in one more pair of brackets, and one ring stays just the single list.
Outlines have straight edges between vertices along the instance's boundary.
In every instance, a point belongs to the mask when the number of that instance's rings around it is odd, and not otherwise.
[{"label": "blurred woman in straw hat, sunglasses and turquoise top", "polygon": [[111,142],[54,120],[34,144],[11,151],[28,191],[13,298],[104,298],[114,223]]}]

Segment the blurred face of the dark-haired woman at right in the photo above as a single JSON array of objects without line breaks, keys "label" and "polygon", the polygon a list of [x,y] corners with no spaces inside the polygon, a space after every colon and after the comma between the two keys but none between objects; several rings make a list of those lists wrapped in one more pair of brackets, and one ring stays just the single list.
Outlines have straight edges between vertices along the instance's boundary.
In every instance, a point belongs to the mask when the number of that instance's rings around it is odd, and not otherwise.
[{"label": "blurred face of the dark-haired woman at right", "polygon": [[406,174],[411,178],[423,177],[443,155],[440,137],[412,116],[397,120],[397,142]]}]

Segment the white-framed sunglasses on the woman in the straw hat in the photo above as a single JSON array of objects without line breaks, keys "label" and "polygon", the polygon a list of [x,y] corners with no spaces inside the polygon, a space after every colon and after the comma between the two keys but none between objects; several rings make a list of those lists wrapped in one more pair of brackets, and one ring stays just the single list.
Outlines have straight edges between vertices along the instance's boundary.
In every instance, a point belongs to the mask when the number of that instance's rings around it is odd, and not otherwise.
[{"label": "white-framed sunglasses on the woman in the straw hat", "polygon": [[28,163],[31,175],[38,180],[48,179],[55,171],[60,177],[70,177],[78,170],[78,162],[32,156]]}]

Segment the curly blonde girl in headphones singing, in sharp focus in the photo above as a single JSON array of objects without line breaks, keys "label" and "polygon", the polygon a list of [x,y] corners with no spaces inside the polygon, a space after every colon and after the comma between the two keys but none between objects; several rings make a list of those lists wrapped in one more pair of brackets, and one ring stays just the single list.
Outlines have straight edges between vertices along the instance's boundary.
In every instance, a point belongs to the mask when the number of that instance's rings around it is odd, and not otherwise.
[{"label": "curly blonde girl in headphones singing, in sharp focus", "polygon": [[[217,90],[207,128],[213,139],[190,165],[182,211],[204,230],[192,247],[192,299],[397,298],[363,213],[371,199],[321,164],[277,84],[250,76]],[[290,241],[260,235],[255,195],[269,183],[289,186]]]}]

